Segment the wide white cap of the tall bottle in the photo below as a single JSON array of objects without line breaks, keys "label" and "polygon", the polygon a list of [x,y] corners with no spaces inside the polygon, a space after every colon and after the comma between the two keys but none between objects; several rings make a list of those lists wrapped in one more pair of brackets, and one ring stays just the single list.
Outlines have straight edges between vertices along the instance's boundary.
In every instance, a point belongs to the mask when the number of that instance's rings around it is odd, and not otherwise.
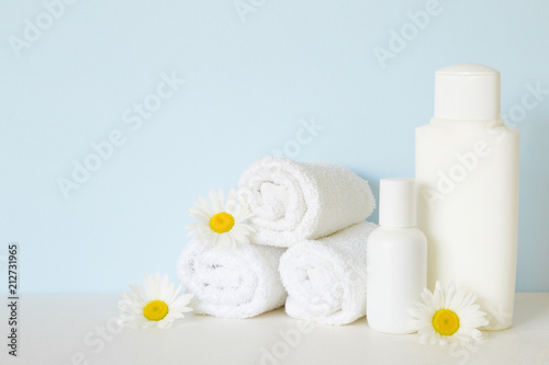
[{"label": "wide white cap of the tall bottle", "polygon": [[498,119],[500,71],[477,64],[459,64],[438,70],[435,76],[435,117]]}]

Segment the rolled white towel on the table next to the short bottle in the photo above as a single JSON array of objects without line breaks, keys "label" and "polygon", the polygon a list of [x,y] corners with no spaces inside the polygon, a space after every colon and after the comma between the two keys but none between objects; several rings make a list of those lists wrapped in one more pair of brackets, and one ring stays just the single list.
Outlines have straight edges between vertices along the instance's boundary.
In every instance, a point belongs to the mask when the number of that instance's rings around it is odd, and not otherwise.
[{"label": "rolled white towel on the table next to the short bottle", "polygon": [[288,292],[285,312],[324,324],[365,317],[366,243],[377,227],[365,221],[288,249],[279,266]]}]

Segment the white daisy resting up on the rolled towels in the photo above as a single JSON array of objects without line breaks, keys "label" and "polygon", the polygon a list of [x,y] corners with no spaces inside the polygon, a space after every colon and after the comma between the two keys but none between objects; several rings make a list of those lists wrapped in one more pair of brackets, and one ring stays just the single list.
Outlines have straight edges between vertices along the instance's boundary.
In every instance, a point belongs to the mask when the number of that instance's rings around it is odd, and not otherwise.
[{"label": "white daisy resting up on the rolled towels", "polygon": [[222,189],[216,194],[210,191],[210,202],[202,196],[189,209],[189,216],[200,221],[186,228],[191,229],[189,236],[195,235],[200,240],[216,247],[234,247],[249,242],[249,233],[255,229],[244,224],[251,214],[246,204],[236,202],[236,191],[231,189],[225,201]]}]

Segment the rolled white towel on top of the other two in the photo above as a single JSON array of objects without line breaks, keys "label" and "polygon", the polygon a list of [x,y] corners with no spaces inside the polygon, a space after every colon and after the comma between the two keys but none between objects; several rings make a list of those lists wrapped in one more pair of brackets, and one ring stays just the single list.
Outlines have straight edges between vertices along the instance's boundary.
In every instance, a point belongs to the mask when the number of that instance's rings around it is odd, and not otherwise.
[{"label": "rolled white towel on top of the other two", "polygon": [[368,218],[376,199],[368,182],[347,168],[267,157],[238,181],[254,213],[256,244],[291,247],[329,236]]}]

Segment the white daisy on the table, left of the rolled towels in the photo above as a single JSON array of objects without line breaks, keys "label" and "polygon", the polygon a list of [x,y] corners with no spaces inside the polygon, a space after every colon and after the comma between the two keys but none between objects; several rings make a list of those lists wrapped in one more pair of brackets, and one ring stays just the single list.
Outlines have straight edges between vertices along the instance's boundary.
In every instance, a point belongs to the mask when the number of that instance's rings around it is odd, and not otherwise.
[{"label": "white daisy on the table, left of the rolled towels", "polygon": [[145,275],[144,287],[139,284],[130,285],[132,293],[122,292],[119,301],[120,321],[130,328],[170,327],[178,318],[192,308],[186,307],[192,294],[178,297],[181,285],[173,288],[168,275]]}]

